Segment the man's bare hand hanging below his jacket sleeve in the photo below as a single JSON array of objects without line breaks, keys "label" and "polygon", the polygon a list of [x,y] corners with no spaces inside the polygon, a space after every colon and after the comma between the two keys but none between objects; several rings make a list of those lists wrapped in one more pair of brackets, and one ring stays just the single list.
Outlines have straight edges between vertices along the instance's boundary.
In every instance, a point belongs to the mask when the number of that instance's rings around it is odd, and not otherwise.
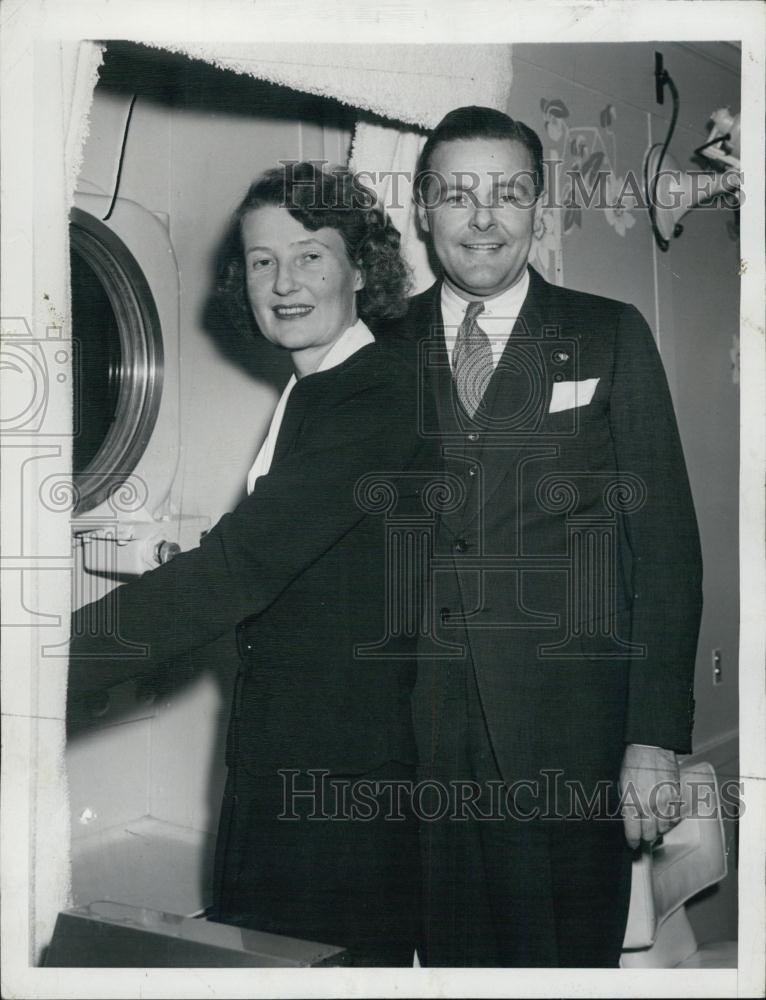
[{"label": "man's bare hand hanging below his jacket sleeve", "polygon": [[651,844],[681,820],[681,779],[672,750],[629,743],[620,771],[625,839]]}]

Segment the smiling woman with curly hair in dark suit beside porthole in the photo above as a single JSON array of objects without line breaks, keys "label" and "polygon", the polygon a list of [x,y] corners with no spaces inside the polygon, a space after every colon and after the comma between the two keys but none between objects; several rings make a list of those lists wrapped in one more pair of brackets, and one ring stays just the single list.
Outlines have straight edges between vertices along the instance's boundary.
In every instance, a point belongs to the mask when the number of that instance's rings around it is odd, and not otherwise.
[{"label": "smiling woman with curly hair in dark suit beside porthole", "polygon": [[[359,650],[387,621],[385,524],[363,480],[378,474],[397,515],[416,514],[435,467],[416,373],[364,322],[406,307],[399,236],[351,174],[311,164],[263,175],[235,221],[225,289],[294,376],[248,497],[198,549],[120,590],[120,636],[148,646],[143,672],[236,628],[214,918],[409,965],[417,833],[392,792],[414,779],[415,638],[390,658]],[[75,616],[75,689],[94,686],[82,657],[108,652],[88,635],[100,612]]]}]

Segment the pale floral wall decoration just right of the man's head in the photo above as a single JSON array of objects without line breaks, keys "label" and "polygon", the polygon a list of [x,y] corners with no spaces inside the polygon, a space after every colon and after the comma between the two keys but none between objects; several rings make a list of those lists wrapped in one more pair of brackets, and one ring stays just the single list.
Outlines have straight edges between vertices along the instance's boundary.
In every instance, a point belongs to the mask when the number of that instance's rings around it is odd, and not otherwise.
[{"label": "pale floral wall decoration just right of the man's head", "polygon": [[545,151],[546,194],[535,231],[532,256],[561,281],[561,250],[568,233],[582,228],[583,207],[597,215],[624,239],[636,224],[634,212],[642,204],[641,181],[634,171],[618,169],[617,111],[607,104],[599,124],[574,125],[561,98],[542,98],[540,110],[545,134],[552,145]]}]

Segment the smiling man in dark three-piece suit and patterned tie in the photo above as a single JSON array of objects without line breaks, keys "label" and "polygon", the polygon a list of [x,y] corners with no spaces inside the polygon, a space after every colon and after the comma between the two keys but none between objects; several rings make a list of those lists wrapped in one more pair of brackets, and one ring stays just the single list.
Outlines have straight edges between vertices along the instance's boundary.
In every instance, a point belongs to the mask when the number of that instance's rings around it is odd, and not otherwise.
[{"label": "smiling man in dark three-piece suit and patterned tie", "polygon": [[404,334],[450,493],[416,692],[429,965],[615,966],[690,750],[701,562],[664,371],[634,307],[528,266],[542,188],[537,135],[476,107],[416,180],[443,276]]}]

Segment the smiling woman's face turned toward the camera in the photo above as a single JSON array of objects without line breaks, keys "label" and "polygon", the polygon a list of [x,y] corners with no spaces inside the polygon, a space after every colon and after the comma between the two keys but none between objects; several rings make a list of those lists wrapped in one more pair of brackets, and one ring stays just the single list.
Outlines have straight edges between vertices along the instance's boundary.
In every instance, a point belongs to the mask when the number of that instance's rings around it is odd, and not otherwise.
[{"label": "smiling woman's face turned toward the camera", "polygon": [[292,353],[307,375],[356,322],[362,272],[337,229],[311,232],[286,208],[263,205],[242,220],[247,295],[267,340]]}]

